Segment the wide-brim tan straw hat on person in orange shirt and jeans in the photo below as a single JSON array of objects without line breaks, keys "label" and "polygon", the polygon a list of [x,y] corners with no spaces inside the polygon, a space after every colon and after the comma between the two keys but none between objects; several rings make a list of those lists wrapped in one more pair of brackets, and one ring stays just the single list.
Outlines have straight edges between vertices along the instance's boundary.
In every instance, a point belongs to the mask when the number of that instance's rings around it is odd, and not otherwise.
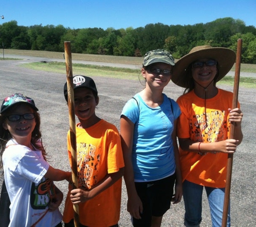
[{"label": "wide-brim tan straw hat on person in orange shirt and jeans", "polygon": [[189,70],[191,69],[191,63],[199,59],[214,59],[217,61],[218,66],[218,78],[221,80],[234,65],[236,61],[236,53],[232,49],[224,47],[212,47],[210,45],[197,46],[191,49],[191,51],[179,59],[174,66],[171,80],[180,87],[189,87]]}]

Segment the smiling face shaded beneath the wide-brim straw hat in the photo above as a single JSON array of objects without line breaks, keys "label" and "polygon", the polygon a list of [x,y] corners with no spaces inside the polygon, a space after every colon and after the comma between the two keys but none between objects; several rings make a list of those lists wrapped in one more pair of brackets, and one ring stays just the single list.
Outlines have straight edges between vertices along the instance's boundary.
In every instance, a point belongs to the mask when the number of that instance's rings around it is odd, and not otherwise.
[{"label": "smiling face shaded beneath the wide-brim straw hat", "polygon": [[[196,62],[207,62],[212,59],[199,59]],[[192,77],[193,79],[202,85],[203,87],[206,87],[216,76],[217,74],[217,66],[206,66],[205,63],[202,67],[197,68],[191,68]]]}]

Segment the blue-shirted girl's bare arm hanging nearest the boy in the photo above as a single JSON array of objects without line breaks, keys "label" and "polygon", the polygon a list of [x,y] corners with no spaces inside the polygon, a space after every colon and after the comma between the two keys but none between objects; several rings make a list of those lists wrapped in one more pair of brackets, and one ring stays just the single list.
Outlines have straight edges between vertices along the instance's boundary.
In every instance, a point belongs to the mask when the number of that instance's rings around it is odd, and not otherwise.
[{"label": "blue-shirted girl's bare arm hanging nearest the boy", "polygon": [[137,194],[134,183],[134,172],[132,163],[133,151],[133,133],[134,124],[126,116],[120,119],[120,134],[123,150],[123,159],[125,164],[124,181],[126,182],[126,190],[128,195],[127,211],[133,217],[140,219],[140,213],[143,211],[142,202]]}]

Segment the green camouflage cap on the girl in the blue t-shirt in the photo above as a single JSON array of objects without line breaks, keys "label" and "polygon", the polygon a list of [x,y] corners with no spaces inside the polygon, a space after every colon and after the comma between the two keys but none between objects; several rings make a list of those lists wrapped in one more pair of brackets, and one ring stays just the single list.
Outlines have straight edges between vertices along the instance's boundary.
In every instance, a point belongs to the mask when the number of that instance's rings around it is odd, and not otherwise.
[{"label": "green camouflage cap on the girl in the blue t-shirt", "polygon": [[148,66],[156,62],[167,63],[168,65],[174,66],[174,58],[171,53],[164,49],[154,49],[144,55],[143,66]]}]

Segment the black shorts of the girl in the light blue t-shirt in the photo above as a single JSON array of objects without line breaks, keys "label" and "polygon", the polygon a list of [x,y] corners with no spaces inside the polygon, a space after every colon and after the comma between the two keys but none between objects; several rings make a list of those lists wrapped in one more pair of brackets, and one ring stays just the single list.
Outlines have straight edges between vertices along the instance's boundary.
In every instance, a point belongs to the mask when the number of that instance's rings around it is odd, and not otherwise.
[{"label": "black shorts of the girl in the light blue t-shirt", "polygon": [[175,174],[157,181],[135,182],[137,194],[143,204],[143,213],[141,219],[132,217],[133,226],[150,227],[152,216],[161,217],[170,209],[174,183]]}]

